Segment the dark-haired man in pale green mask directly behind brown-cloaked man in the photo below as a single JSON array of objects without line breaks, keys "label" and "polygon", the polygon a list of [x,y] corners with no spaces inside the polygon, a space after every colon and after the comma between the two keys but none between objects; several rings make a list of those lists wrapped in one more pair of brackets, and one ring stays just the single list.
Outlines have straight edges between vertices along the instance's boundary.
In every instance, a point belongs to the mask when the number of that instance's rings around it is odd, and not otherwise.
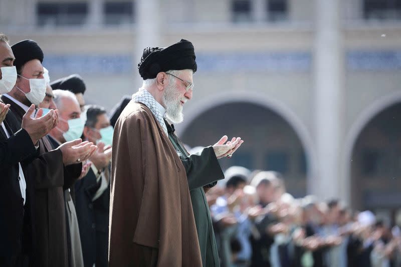
[{"label": "dark-haired man in pale green mask directly behind brown-cloaked man", "polygon": [[[85,266],[107,266],[113,127],[106,110],[86,106],[85,140],[97,143],[87,175],[75,183],[75,204]],[[99,142],[100,141],[100,142]]]}]

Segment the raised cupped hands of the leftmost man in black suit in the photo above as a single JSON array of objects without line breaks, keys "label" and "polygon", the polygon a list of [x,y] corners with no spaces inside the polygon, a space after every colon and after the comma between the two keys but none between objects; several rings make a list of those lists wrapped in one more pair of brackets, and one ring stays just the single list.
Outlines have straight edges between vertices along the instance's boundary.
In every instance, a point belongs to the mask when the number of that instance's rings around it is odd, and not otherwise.
[{"label": "raised cupped hands of the leftmost man in black suit", "polygon": [[57,126],[58,113],[54,110],[50,110],[48,114],[40,117],[43,114],[43,110],[39,109],[37,119],[31,118],[31,115],[35,111],[35,105],[32,104],[27,113],[22,118],[22,128],[25,129],[32,139],[32,142],[36,144],[39,139],[47,135],[54,127]]}]

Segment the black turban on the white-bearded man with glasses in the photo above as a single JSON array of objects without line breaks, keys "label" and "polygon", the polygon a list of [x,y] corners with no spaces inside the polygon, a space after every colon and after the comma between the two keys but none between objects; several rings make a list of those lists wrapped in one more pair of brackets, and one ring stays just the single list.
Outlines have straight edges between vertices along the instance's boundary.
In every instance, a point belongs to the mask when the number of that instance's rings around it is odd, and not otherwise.
[{"label": "black turban on the white-bearded man with glasses", "polygon": [[169,70],[196,72],[196,68],[193,45],[183,39],[166,48],[145,48],[138,64],[139,74],[143,80],[156,78],[159,72]]}]

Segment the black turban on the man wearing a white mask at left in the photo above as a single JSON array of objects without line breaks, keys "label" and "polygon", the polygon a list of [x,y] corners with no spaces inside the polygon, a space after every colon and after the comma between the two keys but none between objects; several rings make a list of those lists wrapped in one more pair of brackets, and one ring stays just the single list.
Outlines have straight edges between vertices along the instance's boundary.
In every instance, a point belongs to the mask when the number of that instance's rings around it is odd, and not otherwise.
[{"label": "black turban on the man wearing a white mask at left", "polygon": [[14,57],[16,57],[14,66],[16,66],[17,73],[21,71],[22,66],[28,61],[38,59],[41,63],[43,62],[43,51],[33,40],[18,42],[11,46],[11,49],[13,50]]}]

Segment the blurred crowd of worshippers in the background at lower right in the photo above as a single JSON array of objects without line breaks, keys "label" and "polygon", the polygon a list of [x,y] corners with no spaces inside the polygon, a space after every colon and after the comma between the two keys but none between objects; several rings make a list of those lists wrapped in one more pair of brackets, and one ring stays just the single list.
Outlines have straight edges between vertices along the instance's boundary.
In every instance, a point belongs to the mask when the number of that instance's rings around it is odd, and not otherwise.
[{"label": "blurred crowd of worshippers in the background at lower right", "polygon": [[295,199],[275,171],[233,166],[225,177],[206,193],[222,267],[401,266],[399,225],[338,199]]}]

